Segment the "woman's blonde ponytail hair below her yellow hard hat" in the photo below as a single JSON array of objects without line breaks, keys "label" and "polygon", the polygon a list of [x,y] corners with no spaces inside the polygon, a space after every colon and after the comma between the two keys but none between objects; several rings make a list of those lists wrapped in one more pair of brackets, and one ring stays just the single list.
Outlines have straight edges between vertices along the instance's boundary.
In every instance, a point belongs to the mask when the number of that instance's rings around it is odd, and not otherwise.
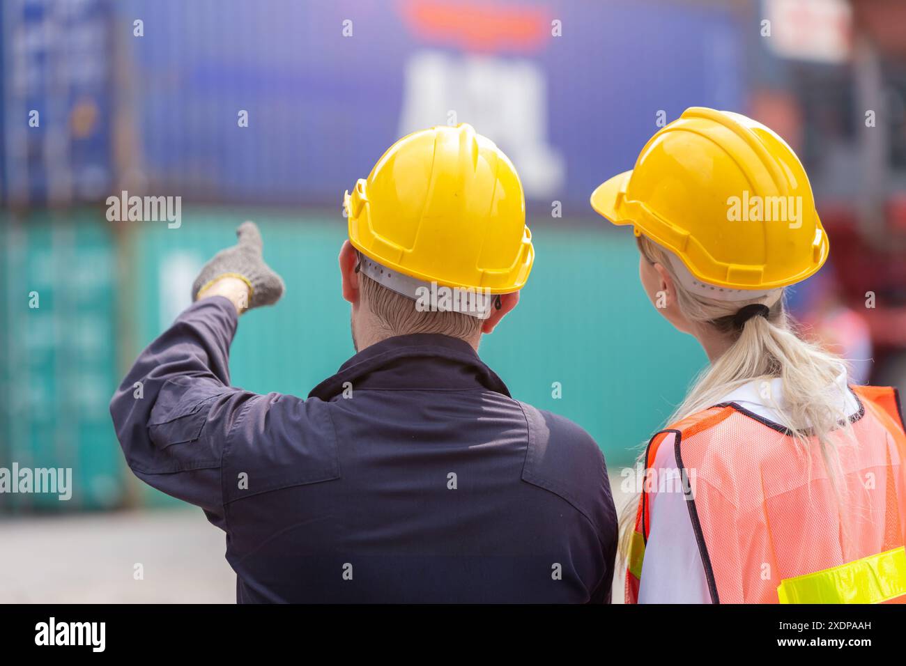
[{"label": "woman's blonde ponytail hair below her yellow hard hat", "polygon": [[[842,396],[836,382],[840,373],[846,372],[843,359],[795,333],[786,313],[784,294],[776,297],[773,304],[765,303],[766,298],[728,302],[692,294],[679,283],[667,250],[645,236],[639,236],[638,242],[642,256],[651,264],[662,265],[673,278],[679,311],[689,322],[712,326],[719,333],[734,337],[728,350],[699,373],[668,423],[713,407],[728,393],[751,381],[779,379],[783,405],[773,401],[770,393],[767,400],[790,430],[809,468],[812,442],[817,441],[836,493],[834,469],[839,467],[836,446],[841,434],[852,438],[848,415],[840,410]],[[739,330],[733,322],[735,314],[748,304],[758,303],[769,305],[767,316],[752,317]],[[644,452],[639,457],[642,464],[643,457]],[[637,507],[638,496],[622,508],[620,552],[623,558],[628,553]]]}]

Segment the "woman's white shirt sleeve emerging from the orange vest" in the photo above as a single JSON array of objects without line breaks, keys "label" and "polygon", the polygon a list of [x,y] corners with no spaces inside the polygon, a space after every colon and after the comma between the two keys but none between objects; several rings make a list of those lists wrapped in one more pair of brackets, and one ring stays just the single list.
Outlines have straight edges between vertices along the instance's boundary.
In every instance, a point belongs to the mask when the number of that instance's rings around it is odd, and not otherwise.
[{"label": "woman's white shirt sleeve emerging from the orange vest", "polygon": [[711,603],[699,543],[678,483],[672,436],[660,443],[652,468],[655,477],[639,603]]}]

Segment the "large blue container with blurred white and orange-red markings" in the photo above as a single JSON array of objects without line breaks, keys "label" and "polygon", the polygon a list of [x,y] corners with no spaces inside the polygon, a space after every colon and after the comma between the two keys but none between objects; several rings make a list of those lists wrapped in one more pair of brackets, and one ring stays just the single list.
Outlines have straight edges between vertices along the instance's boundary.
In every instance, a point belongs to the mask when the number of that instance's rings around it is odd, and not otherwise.
[{"label": "large blue container with blurred white and orange-red markings", "polygon": [[144,22],[123,59],[136,170],[152,194],[339,205],[392,141],[469,122],[513,160],[527,198],[584,214],[659,121],[743,108],[730,5],[127,0],[118,34]]}]

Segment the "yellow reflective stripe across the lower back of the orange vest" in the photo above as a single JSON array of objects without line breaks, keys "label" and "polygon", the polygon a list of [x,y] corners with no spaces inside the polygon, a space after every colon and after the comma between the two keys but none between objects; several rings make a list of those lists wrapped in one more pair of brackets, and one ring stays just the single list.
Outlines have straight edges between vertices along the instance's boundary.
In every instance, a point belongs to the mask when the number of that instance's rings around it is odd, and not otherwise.
[{"label": "yellow reflective stripe across the lower back of the orange vest", "polygon": [[906,550],[869,555],[814,574],[786,578],[780,603],[882,603],[906,594]]}]

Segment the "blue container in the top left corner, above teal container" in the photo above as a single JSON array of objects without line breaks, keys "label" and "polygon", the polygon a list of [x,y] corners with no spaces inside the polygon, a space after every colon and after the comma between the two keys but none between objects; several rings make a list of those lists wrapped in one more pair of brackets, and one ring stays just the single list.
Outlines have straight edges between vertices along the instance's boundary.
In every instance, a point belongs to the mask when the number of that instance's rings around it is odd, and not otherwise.
[{"label": "blue container in the top left corner, above teal container", "polygon": [[10,0],[0,13],[5,198],[101,199],[112,171],[112,0]]}]

